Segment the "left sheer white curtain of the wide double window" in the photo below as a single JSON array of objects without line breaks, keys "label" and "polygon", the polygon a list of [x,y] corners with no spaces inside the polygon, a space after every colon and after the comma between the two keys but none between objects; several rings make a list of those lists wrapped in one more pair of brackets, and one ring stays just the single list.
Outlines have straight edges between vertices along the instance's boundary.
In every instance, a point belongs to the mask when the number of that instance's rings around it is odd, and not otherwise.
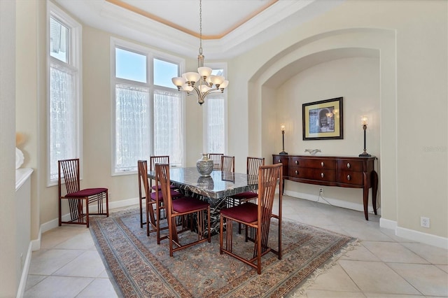
[{"label": "left sheer white curtain of the wide double window", "polygon": [[116,170],[137,171],[151,156],[149,89],[116,85]]}]

